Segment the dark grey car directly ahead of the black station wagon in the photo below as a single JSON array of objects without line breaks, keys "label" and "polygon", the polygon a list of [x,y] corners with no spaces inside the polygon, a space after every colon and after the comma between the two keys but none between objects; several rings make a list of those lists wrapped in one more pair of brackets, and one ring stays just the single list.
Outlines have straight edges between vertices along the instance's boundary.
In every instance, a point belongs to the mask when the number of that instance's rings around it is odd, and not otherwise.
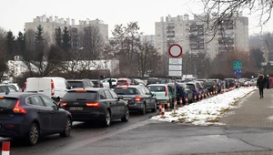
[{"label": "dark grey car directly ahead of the black station wagon", "polygon": [[142,85],[118,86],[114,89],[129,105],[130,111],[146,114],[147,110],[157,111],[157,98]]}]

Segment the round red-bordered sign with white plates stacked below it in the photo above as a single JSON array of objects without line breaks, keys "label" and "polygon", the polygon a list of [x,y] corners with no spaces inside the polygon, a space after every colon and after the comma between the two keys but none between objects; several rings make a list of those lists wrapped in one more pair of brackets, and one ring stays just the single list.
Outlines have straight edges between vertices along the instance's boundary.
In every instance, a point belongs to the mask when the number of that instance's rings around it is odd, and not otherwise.
[{"label": "round red-bordered sign with white plates stacked below it", "polygon": [[182,47],[173,44],[168,48],[168,76],[182,77]]}]

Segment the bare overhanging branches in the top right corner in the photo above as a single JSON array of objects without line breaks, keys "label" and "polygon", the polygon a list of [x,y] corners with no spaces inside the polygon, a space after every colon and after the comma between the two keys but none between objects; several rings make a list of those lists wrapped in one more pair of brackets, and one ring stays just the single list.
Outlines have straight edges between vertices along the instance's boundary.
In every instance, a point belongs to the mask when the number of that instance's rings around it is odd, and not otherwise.
[{"label": "bare overhanging branches in the top right corner", "polygon": [[207,23],[212,22],[211,30],[216,30],[223,25],[223,21],[230,20],[245,9],[250,14],[259,14],[258,26],[268,23],[271,17],[273,2],[268,0],[202,0],[204,13],[207,15]]}]

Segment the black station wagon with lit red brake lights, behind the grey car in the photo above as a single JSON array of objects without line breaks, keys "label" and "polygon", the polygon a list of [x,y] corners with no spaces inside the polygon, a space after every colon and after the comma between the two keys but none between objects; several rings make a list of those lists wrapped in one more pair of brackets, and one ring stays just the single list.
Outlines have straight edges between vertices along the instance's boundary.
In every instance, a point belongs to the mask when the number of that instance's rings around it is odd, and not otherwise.
[{"label": "black station wagon with lit red brake lights, behind the grey car", "polygon": [[68,90],[60,104],[71,112],[75,121],[100,120],[108,127],[113,119],[129,119],[127,103],[109,88]]}]

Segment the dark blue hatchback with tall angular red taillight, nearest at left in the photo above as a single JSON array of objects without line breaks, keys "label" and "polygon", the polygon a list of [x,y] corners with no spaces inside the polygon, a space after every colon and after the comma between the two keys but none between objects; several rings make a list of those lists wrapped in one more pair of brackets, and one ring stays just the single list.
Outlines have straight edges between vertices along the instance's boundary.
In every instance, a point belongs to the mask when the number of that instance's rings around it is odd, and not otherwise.
[{"label": "dark blue hatchback with tall angular red taillight, nearest at left", "polygon": [[40,137],[70,136],[72,117],[54,100],[38,93],[0,94],[0,137],[24,138],[35,145]]}]

